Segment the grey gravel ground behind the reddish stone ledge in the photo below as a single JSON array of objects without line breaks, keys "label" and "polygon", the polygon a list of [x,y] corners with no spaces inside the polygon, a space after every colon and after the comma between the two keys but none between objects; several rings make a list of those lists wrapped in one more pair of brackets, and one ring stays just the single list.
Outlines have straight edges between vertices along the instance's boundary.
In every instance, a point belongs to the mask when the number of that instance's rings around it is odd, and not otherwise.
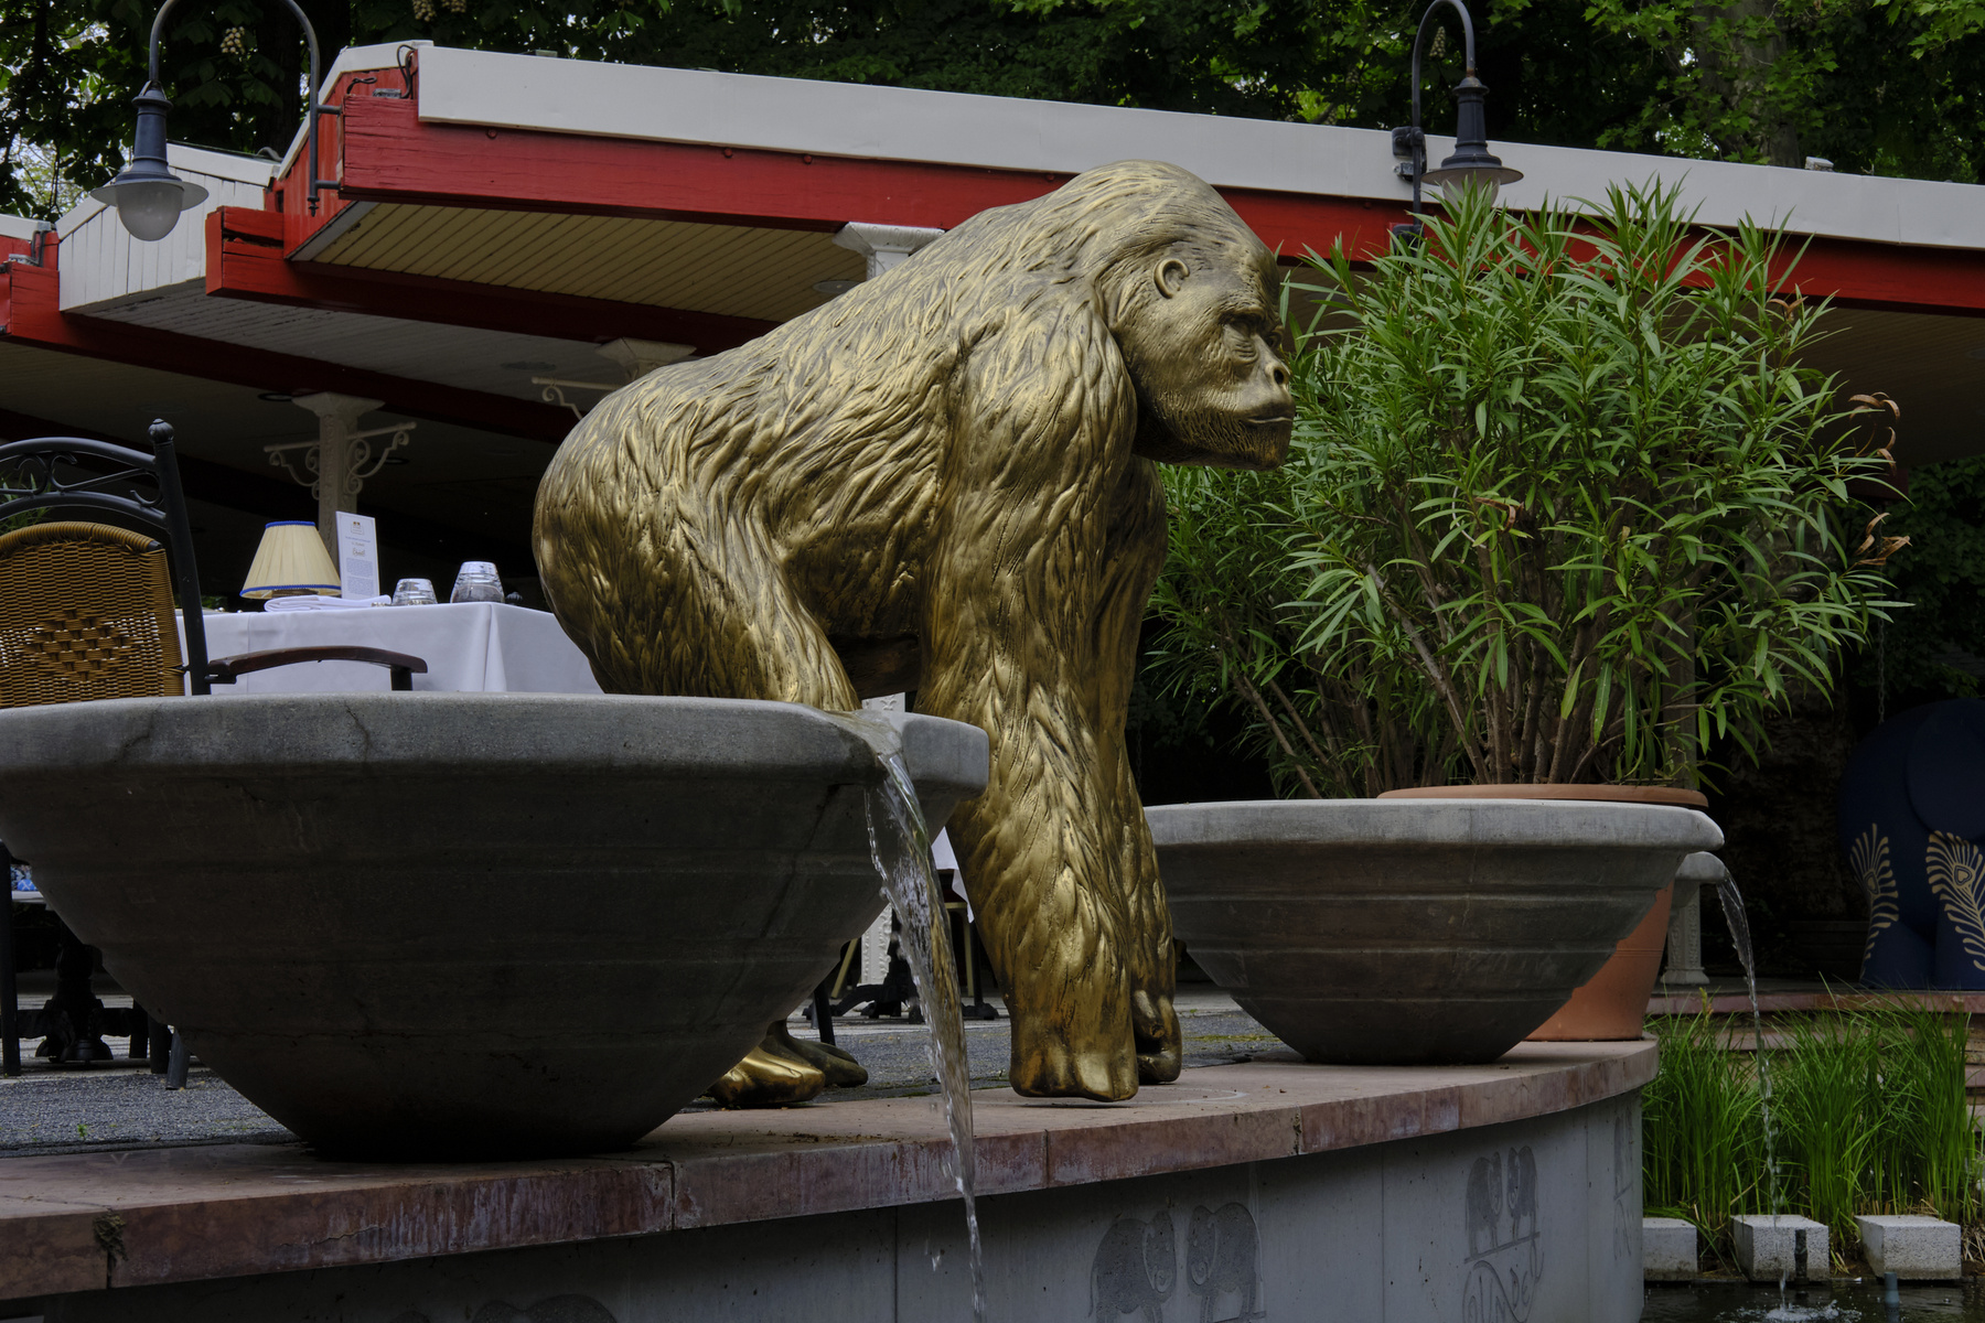
[{"label": "grey gravel ground behind the reddish stone ledge", "polygon": [[[1223,1065],[1280,1047],[1274,1035],[1217,992],[1181,990],[1179,1023],[1187,1067]],[[794,1022],[792,1029],[794,1037],[814,1035],[804,1022]],[[1008,1031],[1004,1016],[965,1023],[973,1087],[996,1089],[1006,1083]],[[937,1087],[923,1025],[838,1020],[836,1041],[867,1067],[869,1083],[834,1091],[828,1099],[907,1097]],[[121,1039],[111,1045],[123,1051]],[[173,1091],[143,1065],[56,1069],[32,1061],[32,1053],[34,1041],[24,1039],[26,1071],[16,1079],[0,1077],[0,1156],[163,1144],[280,1144],[296,1139],[198,1065],[187,1087]],[[689,1111],[707,1107],[709,1103],[697,1103]]]}]

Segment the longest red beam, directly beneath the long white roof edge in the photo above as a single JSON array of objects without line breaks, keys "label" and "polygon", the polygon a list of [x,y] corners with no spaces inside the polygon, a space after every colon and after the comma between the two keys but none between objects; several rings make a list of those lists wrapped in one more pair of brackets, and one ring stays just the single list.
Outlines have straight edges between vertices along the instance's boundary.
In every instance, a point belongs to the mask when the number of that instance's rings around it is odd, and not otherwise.
[{"label": "longest red beam, directly beneath the long white roof edge", "polygon": [[[951,228],[1068,179],[421,123],[417,111],[411,99],[347,99],[343,196],[800,230],[836,230],[848,220]],[[1340,238],[1354,258],[1368,258],[1384,252],[1388,226],[1405,218],[1397,204],[1364,198],[1221,192],[1286,258],[1328,252]],[[1860,307],[1985,313],[1985,252],[1824,238],[1808,248],[1798,286]]]}]

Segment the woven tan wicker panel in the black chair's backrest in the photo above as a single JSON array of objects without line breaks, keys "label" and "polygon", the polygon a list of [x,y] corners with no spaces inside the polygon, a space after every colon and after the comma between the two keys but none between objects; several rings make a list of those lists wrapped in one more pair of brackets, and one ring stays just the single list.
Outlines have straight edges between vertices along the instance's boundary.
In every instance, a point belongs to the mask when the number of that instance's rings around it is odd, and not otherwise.
[{"label": "woven tan wicker panel in the black chair's backrest", "polygon": [[109,524],[0,534],[0,708],[183,692],[155,538]]}]

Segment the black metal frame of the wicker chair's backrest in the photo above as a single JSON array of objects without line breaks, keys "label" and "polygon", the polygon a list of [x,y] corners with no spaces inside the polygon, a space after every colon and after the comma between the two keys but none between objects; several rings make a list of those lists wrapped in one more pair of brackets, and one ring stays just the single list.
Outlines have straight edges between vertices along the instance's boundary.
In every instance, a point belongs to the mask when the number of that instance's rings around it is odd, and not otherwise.
[{"label": "black metal frame of the wicker chair's backrest", "polygon": [[[179,486],[179,456],[173,428],[151,424],[151,454],[107,440],[83,436],[38,436],[0,444],[0,520],[28,510],[95,510],[145,524],[165,534],[171,561],[169,583],[185,607],[185,682],[195,694],[208,692],[206,623],[200,617],[200,575],[193,563],[193,530],[187,524],[187,494]],[[139,486],[149,486],[145,492]],[[149,541],[149,540],[147,540]],[[60,583],[56,585],[60,591]],[[161,639],[177,633],[167,593]],[[165,645],[161,643],[161,649]],[[171,662],[179,666],[175,659]],[[157,688],[143,692],[155,694]],[[165,692],[179,694],[179,686]],[[38,698],[36,702],[50,702]],[[0,706],[8,706],[0,702]]]}]

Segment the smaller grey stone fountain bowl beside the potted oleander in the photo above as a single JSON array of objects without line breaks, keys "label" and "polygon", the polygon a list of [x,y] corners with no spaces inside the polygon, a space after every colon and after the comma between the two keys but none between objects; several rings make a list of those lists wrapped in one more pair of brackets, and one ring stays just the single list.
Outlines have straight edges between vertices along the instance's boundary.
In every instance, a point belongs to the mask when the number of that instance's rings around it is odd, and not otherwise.
[{"label": "smaller grey stone fountain bowl beside the potted oleander", "polygon": [[1648,803],[1262,799],[1145,809],[1171,922],[1310,1061],[1495,1061],[1723,833]]}]

